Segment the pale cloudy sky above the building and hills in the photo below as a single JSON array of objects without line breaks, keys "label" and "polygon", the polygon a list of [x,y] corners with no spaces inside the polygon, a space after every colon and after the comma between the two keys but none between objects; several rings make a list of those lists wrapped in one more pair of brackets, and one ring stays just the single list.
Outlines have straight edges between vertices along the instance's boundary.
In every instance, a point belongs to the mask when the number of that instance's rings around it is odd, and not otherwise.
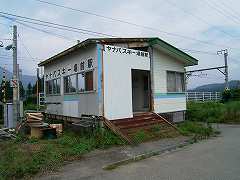
[{"label": "pale cloudy sky above the building and hills", "polygon": [[[240,1],[238,0],[46,1],[152,27],[159,31],[54,7],[36,0],[0,0],[0,11],[117,37],[159,37],[177,48],[186,49],[185,52],[199,59],[198,66],[187,70],[223,66],[223,56],[216,55],[216,52],[227,48],[230,80],[240,79]],[[0,17],[0,40],[11,38],[11,25],[13,25],[12,21]],[[90,37],[101,37],[31,25],[48,32],[44,33],[17,25],[20,37],[19,64],[23,69],[23,74],[35,74],[38,61],[76,44],[78,39],[82,41]],[[177,34],[177,36],[163,31]],[[189,40],[191,38],[204,41],[204,43]],[[11,43],[7,40],[3,42],[4,45]],[[201,52],[196,52],[196,50]],[[7,64],[8,69],[12,70],[11,59],[3,58],[3,56],[10,55],[11,52],[0,49],[0,65]],[[196,87],[215,82],[224,82],[223,75],[218,71],[204,72],[200,77],[193,76],[188,84],[189,87]]]}]

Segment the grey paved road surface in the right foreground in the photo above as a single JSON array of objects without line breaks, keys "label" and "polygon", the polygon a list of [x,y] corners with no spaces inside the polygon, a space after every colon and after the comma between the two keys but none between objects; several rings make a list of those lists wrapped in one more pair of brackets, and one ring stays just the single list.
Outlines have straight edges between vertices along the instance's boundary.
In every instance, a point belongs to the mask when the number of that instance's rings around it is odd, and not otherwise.
[{"label": "grey paved road surface in the right foreground", "polygon": [[112,171],[102,170],[102,162],[82,164],[81,161],[41,179],[239,180],[240,125],[220,125],[219,128],[220,137]]}]

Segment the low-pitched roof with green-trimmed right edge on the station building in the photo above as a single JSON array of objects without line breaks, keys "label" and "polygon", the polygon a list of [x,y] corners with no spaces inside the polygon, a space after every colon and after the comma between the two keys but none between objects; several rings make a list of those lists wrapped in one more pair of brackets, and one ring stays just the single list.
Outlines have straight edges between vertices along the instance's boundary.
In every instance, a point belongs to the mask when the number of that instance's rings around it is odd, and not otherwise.
[{"label": "low-pitched roof with green-trimmed right edge on the station building", "polygon": [[88,46],[90,44],[112,44],[112,43],[133,43],[133,42],[147,42],[149,43],[149,46],[153,46],[153,45],[158,45],[162,48],[164,48],[165,50],[168,50],[170,53],[174,53],[176,56],[179,56],[179,58],[184,58],[187,61],[189,61],[190,65],[196,65],[198,63],[198,60],[195,59],[194,57],[188,55],[187,53],[181,51],[180,49],[172,46],[171,44],[161,40],[158,37],[142,37],[142,38],[90,38],[90,39],[86,39],[85,41],[82,41],[81,43],[78,43],[42,62],[40,62],[38,64],[38,66],[44,66],[48,63],[51,63],[52,61],[66,56],[68,54],[70,54],[73,51],[76,51],[79,48],[82,48],[84,46]]}]

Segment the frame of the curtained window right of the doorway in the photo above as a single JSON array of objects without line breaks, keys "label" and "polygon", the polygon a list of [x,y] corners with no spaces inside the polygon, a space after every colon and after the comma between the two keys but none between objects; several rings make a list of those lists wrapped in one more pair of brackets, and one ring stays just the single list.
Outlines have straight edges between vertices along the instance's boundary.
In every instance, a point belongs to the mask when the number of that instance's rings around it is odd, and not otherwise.
[{"label": "frame of the curtained window right of the doorway", "polygon": [[[168,73],[173,73],[174,74],[174,91],[169,91],[169,81],[168,81]],[[179,72],[179,71],[166,71],[166,85],[167,85],[167,93],[185,93],[186,92],[186,84],[185,84],[185,72]],[[177,83],[177,75],[180,75],[180,80],[181,80],[181,87],[178,87]],[[178,89],[181,88],[181,91]]]}]

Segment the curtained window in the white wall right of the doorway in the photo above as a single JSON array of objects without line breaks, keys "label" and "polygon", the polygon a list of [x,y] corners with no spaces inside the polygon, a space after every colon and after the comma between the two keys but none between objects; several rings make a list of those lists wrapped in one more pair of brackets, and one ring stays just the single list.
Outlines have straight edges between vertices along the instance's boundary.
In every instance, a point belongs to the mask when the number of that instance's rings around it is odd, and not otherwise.
[{"label": "curtained window in the white wall right of the doorway", "polygon": [[168,92],[185,91],[184,73],[167,71],[167,91]]}]

